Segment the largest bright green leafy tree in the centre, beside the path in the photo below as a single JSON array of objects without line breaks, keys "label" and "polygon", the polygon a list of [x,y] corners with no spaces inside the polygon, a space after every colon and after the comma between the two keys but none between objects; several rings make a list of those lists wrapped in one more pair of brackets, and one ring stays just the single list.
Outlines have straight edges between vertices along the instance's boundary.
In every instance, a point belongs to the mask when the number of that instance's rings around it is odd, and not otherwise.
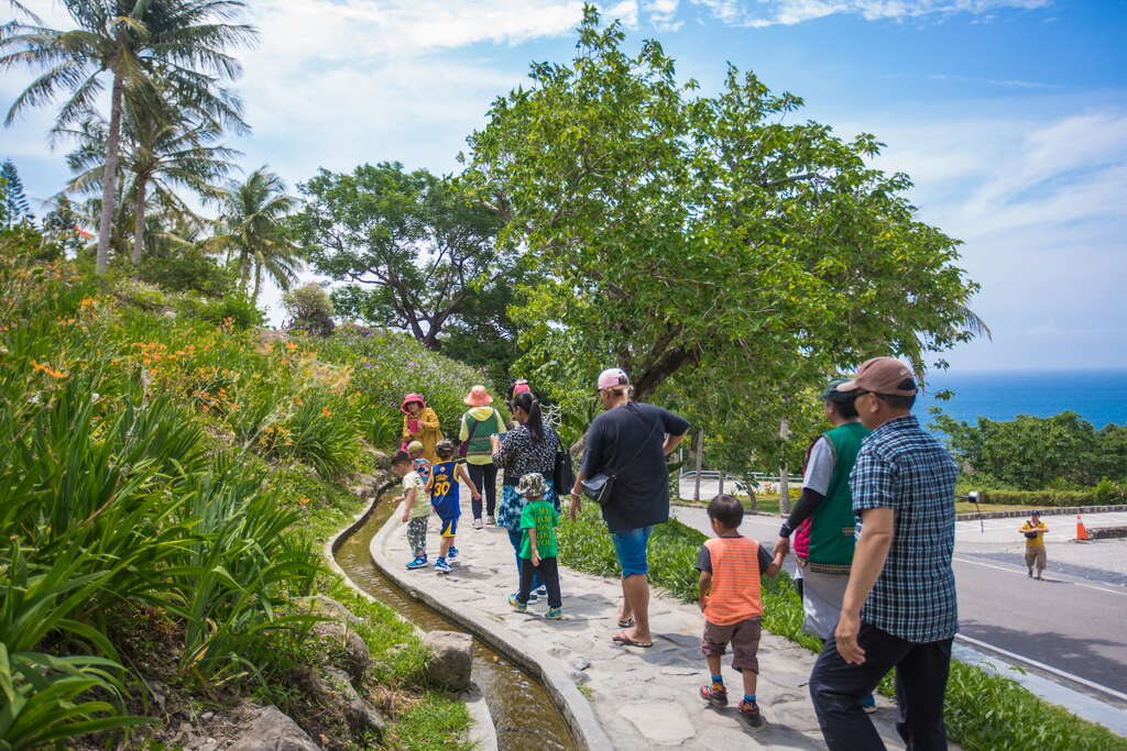
[{"label": "largest bright green leafy tree in the centre, beside the path", "polygon": [[[976,286],[958,242],[916,221],[907,176],[870,169],[880,144],[805,122],[801,106],[728,69],[721,91],[680,84],[654,41],[637,55],[592,7],[570,64],[536,63],[469,138],[465,180],[550,279],[527,290],[538,377],[616,364],[735,415],[875,354],[922,369],[970,338]],[[746,387],[731,387],[742,381]],[[777,444],[784,404],[764,415]]]}]

